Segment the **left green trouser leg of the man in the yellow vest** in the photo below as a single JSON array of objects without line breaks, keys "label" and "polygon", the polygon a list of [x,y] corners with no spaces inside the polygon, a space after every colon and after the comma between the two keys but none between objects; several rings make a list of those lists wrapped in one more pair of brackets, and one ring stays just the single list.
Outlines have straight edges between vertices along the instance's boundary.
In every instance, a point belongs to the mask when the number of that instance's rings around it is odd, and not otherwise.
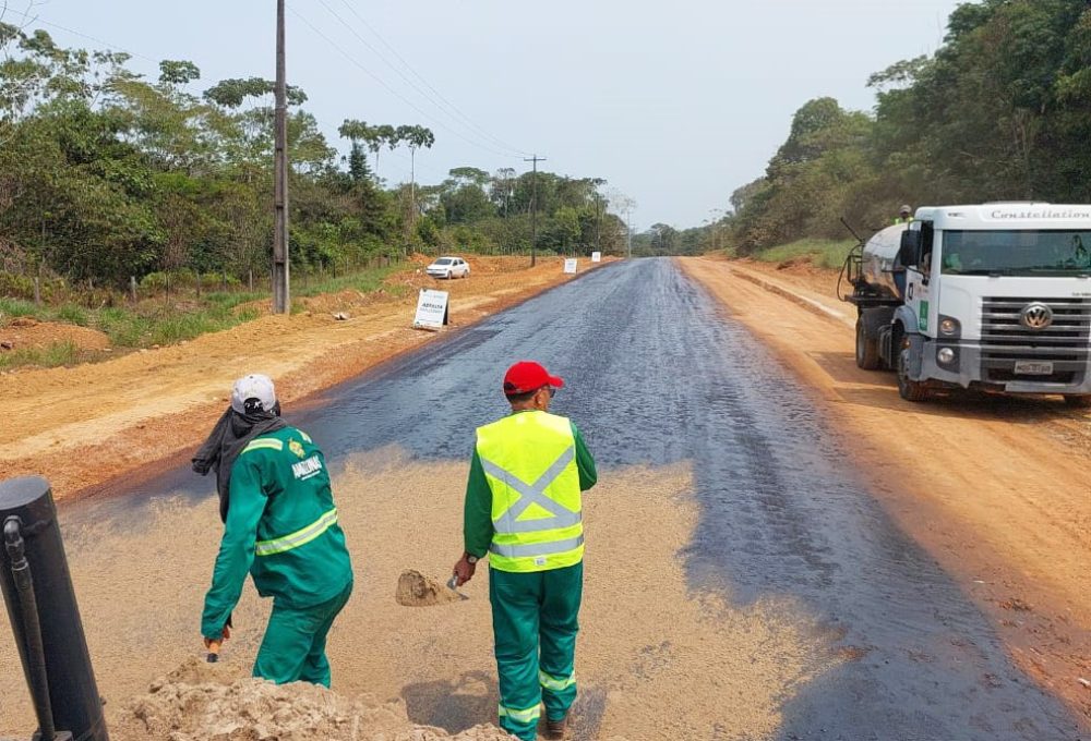
[{"label": "left green trouser leg of the man in the yellow vest", "polygon": [[489,600],[500,685],[500,726],[533,741],[541,715],[538,679],[538,611],[541,573],[490,570]]}]

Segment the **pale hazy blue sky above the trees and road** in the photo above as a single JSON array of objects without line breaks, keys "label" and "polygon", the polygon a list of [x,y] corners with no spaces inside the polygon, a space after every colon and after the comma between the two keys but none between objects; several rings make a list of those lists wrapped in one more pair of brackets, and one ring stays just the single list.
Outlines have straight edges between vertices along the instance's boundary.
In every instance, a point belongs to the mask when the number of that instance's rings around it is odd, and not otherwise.
[{"label": "pale hazy blue sky above the trees and road", "polygon": [[[29,1],[8,4],[21,12]],[[423,182],[464,165],[521,171],[521,157],[537,153],[544,169],[601,177],[635,198],[634,227],[683,228],[764,171],[806,100],[871,109],[867,76],[934,51],[958,4],[288,0],[288,78],[336,144],[345,118],[430,126],[435,147],[417,157]],[[132,66],[149,75],[151,60],[192,60],[204,89],[272,78],[275,8],[35,0],[33,12],[61,44],[101,46],[57,25],[140,54]],[[408,180],[407,153],[381,157],[381,175]]]}]

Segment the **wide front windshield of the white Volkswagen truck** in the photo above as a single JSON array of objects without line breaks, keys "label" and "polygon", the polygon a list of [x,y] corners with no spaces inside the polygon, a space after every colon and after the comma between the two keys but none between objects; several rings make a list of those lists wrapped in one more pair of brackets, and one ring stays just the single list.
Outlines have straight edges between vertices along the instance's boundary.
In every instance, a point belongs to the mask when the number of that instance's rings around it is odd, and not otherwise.
[{"label": "wide front windshield of the white Volkswagen truck", "polygon": [[1091,231],[947,231],[942,254],[944,275],[1088,275]]}]

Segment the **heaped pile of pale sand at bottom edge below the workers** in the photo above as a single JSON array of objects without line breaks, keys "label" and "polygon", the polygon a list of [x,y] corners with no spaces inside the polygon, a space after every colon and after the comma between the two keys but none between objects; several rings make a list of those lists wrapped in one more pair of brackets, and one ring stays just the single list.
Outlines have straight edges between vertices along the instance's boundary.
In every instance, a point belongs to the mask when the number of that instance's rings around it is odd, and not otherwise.
[{"label": "heaped pile of pale sand at bottom edge below the workers", "polygon": [[511,741],[493,726],[457,736],[416,726],[401,703],[348,699],[296,682],[276,685],[238,666],[191,658],[128,703],[115,741]]}]

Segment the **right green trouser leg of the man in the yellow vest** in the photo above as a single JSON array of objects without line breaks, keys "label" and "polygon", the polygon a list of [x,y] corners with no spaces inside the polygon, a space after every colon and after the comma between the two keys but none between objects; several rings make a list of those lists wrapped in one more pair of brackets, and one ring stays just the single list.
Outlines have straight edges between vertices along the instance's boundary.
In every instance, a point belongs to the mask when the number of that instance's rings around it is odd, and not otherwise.
[{"label": "right green trouser leg of the man in the yellow vest", "polygon": [[584,563],[542,572],[538,681],[546,717],[563,718],[576,700],[576,634],[584,591]]}]

